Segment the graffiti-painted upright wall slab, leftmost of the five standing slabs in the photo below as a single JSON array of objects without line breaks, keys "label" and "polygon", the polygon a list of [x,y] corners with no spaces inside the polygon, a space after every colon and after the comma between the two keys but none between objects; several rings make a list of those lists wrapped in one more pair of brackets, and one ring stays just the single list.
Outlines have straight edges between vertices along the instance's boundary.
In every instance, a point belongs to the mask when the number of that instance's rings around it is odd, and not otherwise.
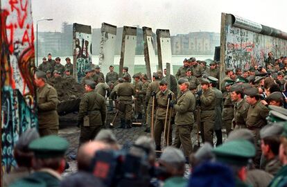
[{"label": "graffiti-painted upright wall slab, leftmost of the five standing slabs", "polygon": [[88,69],[92,69],[92,28],[73,24],[73,72],[78,82]]}]

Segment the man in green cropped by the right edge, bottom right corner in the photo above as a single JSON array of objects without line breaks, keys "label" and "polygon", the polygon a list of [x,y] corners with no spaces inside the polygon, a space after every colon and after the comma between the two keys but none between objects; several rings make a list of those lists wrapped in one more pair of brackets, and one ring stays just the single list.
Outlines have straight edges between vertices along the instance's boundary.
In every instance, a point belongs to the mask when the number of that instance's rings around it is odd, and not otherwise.
[{"label": "man in green cropped by the right edge, bottom right corner", "polygon": [[274,179],[272,179],[269,187],[281,187],[287,185],[287,125],[284,125],[284,131],[280,137],[279,146],[279,160],[283,167],[277,172]]}]

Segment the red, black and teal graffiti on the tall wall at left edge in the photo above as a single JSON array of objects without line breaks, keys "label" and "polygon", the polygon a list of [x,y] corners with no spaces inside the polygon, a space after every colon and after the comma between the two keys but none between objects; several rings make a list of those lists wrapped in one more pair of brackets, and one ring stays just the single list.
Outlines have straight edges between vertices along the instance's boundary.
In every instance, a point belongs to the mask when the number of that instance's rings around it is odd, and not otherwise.
[{"label": "red, black and teal graffiti on the tall wall at left edge", "polygon": [[37,127],[31,0],[1,0],[1,170],[9,172],[22,132]]}]

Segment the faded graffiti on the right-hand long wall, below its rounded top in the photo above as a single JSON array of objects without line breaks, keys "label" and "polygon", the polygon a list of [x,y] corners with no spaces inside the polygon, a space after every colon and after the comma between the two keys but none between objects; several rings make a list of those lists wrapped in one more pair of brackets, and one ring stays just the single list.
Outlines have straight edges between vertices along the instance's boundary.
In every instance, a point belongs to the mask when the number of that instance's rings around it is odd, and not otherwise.
[{"label": "faded graffiti on the right-hand long wall, below its rounded top", "polygon": [[271,51],[276,57],[286,55],[287,41],[277,37],[254,33],[250,30],[227,25],[225,27],[225,66],[249,69],[250,66],[265,66]]}]

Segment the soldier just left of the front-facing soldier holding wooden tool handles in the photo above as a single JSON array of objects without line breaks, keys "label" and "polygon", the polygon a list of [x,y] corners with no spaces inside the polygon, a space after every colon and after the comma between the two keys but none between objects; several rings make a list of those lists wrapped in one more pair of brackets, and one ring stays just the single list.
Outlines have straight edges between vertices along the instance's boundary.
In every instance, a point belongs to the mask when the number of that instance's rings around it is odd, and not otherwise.
[{"label": "soldier just left of the front-facing soldier holding wooden tool handles", "polygon": [[[159,76],[157,73],[153,73],[153,82],[148,84],[148,89],[146,90],[146,113],[148,115],[147,127],[145,132],[150,132],[150,125],[152,121],[152,111],[153,111],[153,99],[155,99],[155,95],[159,91]],[[155,116],[155,115],[154,115]],[[154,119],[153,119],[154,120]]]}]

